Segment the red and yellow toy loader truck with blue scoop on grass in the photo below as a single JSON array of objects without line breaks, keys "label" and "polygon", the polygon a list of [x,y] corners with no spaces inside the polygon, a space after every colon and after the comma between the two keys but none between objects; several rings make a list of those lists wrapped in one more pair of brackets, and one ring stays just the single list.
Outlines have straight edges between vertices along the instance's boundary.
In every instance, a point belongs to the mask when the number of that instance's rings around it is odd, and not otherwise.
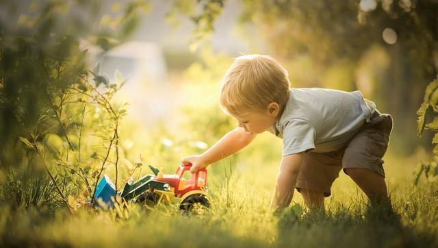
[{"label": "red and yellow toy loader truck with blue scoop on grass", "polygon": [[[190,173],[192,165],[179,165],[175,174],[163,174],[154,166],[149,168],[154,175],[145,175],[133,184],[125,184],[119,192],[116,192],[114,184],[107,175],[99,181],[96,188],[94,202],[107,207],[114,207],[112,197],[119,195],[122,199],[144,203],[147,206],[155,206],[160,202],[179,203],[179,208],[184,212],[190,212],[198,206],[209,208],[207,198],[207,169],[201,169],[196,173]],[[190,175],[190,178],[186,179]]]}]

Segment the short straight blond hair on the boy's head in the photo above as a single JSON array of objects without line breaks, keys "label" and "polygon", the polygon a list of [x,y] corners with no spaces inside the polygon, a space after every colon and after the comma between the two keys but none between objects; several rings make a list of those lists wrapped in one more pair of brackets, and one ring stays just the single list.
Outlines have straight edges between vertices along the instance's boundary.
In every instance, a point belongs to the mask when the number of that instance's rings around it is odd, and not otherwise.
[{"label": "short straight blond hair on the boy's head", "polygon": [[272,102],[284,108],[289,85],[286,69],[270,56],[242,55],[235,58],[222,79],[220,106],[227,114],[263,111]]}]

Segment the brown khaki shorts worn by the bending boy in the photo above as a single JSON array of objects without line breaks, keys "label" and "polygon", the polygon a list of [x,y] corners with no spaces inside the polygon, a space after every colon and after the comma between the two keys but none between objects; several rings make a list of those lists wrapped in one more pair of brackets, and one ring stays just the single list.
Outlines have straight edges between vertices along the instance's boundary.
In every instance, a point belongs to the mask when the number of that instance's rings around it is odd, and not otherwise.
[{"label": "brown khaki shorts worn by the bending boy", "polygon": [[296,189],[323,192],[325,197],[331,195],[331,185],[339,176],[339,171],[346,168],[363,168],[385,177],[383,155],[388,147],[392,118],[377,110],[370,122],[365,122],[361,129],[348,142],[346,147],[329,153],[305,153]]}]

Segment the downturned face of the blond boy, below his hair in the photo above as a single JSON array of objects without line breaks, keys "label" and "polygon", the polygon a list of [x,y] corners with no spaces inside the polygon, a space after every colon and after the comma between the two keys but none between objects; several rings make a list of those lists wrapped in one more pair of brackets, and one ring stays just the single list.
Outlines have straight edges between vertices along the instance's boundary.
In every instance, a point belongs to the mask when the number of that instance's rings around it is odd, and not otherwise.
[{"label": "downturned face of the blond boy, below his hair", "polygon": [[246,112],[239,115],[231,115],[239,122],[239,127],[243,127],[245,132],[261,134],[272,126],[276,118],[270,112]]}]

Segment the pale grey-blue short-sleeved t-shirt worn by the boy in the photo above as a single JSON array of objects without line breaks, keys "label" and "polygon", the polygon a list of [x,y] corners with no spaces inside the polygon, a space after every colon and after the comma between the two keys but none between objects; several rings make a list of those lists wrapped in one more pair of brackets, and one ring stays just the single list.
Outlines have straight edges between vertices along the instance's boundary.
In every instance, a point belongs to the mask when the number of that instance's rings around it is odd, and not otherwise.
[{"label": "pale grey-blue short-sleeved t-shirt worn by the boy", "polygon": [[268,131],[283,138],[283,156],[337,151],[369,121],[375,109],[359,90],[291,88],[281,119]]}]

